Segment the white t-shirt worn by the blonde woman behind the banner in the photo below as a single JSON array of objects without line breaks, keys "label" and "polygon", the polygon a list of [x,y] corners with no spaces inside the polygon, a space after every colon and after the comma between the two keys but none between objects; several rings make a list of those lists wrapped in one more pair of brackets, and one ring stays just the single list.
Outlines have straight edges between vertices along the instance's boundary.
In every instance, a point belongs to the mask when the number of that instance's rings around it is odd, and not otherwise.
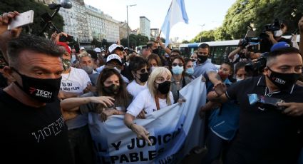
[{"label": "white t-shirt worn by the blonde woman behind the banner", "polygon": [[[172,92],[170,92],[170,101],[173,104]],[[159,98],[160,109],[165,108],[166,106],[168,106],[168,104],[166,103],[166,99]],[[137,117],[142,110],[144,110],[145,113],[152,113],[154,111],[157,111],[155,98],[151,96],[150,91],[148,89],[141,91],[138,96],[135,97],[133,102],[130,103],[130,106],[128,106],[127,113],[134,117]]]}]

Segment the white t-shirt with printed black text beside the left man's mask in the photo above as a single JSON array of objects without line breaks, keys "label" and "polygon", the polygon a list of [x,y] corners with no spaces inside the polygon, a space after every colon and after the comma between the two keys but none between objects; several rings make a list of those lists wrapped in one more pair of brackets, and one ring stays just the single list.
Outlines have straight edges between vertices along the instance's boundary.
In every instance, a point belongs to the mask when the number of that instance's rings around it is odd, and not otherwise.
[{"label": "white t-shirt with printed black text beside the left man's mask", "polygon": [[60,88],[62,91],[82,94],[88,83],[91,80],[86,71],[71,67],[70,73],[62,74]]}]

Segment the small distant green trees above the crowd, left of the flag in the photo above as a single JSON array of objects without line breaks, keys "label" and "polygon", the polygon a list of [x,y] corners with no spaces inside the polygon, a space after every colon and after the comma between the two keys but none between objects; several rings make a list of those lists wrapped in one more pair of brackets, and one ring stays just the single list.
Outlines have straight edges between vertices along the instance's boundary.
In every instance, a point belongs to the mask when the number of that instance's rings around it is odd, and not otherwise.
[{"label": "small distant green trees above the crowd, left of the flag", "polygon": [[[134,35],[130,34],[130,48],[135,48],[136,46],[145,45],[148,43],[148,37],[142,36],[140,34]],[[120,40],[121,45],[128,46],[128,39],[121,39]]]}]

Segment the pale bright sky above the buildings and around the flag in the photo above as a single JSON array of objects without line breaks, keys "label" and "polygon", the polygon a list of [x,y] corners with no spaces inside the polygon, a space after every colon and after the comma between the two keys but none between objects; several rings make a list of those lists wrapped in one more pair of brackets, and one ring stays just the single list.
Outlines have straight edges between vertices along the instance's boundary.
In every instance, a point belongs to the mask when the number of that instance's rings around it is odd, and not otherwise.
[{"label": "pale bright sky above the buildings and around the flag", "polygon": [[[236,0],[184,0],[189,23],[180,22],[170,29],[170,39],[178,41],[193,39],[200,31],[215,29],[222,25],[227,10]],[[84,0],[86,4],[101,9],[117,21],[126,21],[130,29],[140,27],[140,16],[150,20],[150,29],[160,29],[168,12],[171,0]],[[204,25],[204,26],[203,26]],[[161,34],[164,37],[163,34]]]}]

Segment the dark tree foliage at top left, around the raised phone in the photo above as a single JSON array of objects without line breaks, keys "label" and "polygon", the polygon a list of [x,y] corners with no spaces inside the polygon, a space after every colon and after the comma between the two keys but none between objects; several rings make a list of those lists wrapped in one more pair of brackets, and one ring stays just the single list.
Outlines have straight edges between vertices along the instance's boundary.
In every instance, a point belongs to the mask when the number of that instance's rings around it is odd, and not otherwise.
[{"label": "dark tree foliage at top left, around the raised phone", "polygon": [[[39,34],[42,31],[41,26],[41,15],[48,12],[48,14],[53,14],[53,11],[48,9],[48,6],[40,4],[34,0],[9,0],[0,1],[0,13],[8,11],[18,11],[23,13],[25,11],[34,10],[34,23],[30,25],[32,34]],[[56,14],[53,18],[53,24],[59,29],[63,30],[64,22],[62,16]],[[48,35],[52,33],[48,31]]]}]

